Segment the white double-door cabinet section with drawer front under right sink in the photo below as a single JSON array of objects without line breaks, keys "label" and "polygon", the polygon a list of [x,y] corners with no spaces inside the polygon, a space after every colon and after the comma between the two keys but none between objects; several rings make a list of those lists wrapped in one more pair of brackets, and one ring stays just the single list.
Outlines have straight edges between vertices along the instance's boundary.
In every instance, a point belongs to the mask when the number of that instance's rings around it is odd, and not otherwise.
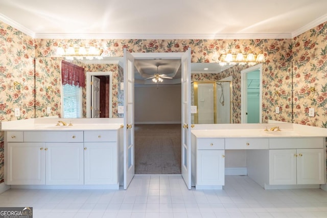
[{"label": "white double-door cabinet section with drawer front under right sink", "polygon": [[323,184],[323,145],[323,138],[269,139],[269,184]]}]

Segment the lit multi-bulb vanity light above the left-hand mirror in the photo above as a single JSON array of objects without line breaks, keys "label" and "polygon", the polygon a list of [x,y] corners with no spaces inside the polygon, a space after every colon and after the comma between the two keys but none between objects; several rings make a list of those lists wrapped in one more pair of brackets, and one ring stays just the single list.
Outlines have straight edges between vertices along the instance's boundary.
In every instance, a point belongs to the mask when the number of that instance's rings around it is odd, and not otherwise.
[{"label": "lit multi-bulb vanity light above the left-hand mirror", "polygon": [[102,59],[101,54],[103,50],[100,47],[95,47],[93,45],[86,47],[86,46],[74,46],[70,44],[67,48],[64,48],[62,45],[57,47],[57,55],[61,57],[66,57],[68,60],[76,59],[83,59],[85,57],[88,60]]}]

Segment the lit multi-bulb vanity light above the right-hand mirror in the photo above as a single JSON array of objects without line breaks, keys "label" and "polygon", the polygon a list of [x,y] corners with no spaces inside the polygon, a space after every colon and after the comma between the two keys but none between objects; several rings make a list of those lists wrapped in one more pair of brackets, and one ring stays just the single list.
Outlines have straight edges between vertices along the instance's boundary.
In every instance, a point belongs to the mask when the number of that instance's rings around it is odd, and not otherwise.
[{"label": "lit multi-bulb vanity light above the right-hand mirror", "polygon": [[219,57],[220,65],[236,64],[236,63],[255,63],[255,62],[265,62],[264,53],[261,51],[258,55],[252,53],[251,50],[247,54],[243,54],[239,51],[236,54],[232,54],[229,50],[227,54],[222,54]]}]

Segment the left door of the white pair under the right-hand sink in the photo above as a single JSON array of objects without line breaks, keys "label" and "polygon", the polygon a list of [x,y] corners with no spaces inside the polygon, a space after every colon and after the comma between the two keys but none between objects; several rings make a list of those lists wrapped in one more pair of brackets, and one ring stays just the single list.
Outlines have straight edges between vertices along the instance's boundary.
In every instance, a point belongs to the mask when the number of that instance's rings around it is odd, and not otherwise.
[{"label": "left door of the white pair under the right-hand sink", "polygon": [[269,184],[296,184],[296,150],[269,150]]}]

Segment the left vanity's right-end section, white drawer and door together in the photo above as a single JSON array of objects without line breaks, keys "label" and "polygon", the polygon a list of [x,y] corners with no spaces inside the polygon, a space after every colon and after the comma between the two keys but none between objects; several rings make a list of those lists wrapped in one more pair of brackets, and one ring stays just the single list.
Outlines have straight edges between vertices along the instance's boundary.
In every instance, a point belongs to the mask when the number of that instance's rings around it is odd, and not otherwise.
[{"label": "left vanity's right-end section, white drawer and door together", "polygon": [[116,185],[118,131],[84,131],[84,184]]}]

